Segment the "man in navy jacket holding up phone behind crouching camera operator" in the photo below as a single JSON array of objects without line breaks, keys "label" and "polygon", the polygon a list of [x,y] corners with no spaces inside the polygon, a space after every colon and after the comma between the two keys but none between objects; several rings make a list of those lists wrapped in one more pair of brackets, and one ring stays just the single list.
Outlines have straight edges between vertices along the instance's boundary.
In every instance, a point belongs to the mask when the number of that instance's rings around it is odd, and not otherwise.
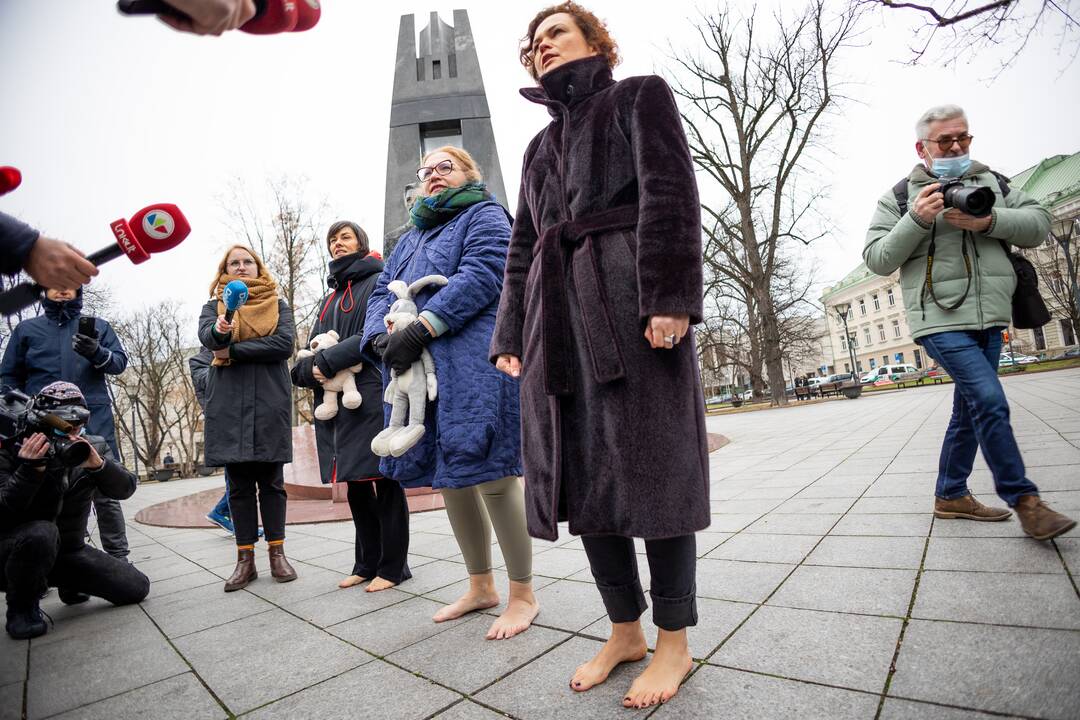
[{"label": "man in navy jacket holding up phone behind crouching camera operator", "polygon": [[[0,363],[0,384],[33,395],[57,380],[75,383],[90,407],[87,432],[105,438],[119,458],[106,376],[127,367],[120,339],[105,320],[82,314],[82,288],[49,289],[41,308],[43,315],[23,321],[12,331]],[[102,549],[126,558],[127,530],[120,503],[100,497],[94,500],[94,510]]]}]

